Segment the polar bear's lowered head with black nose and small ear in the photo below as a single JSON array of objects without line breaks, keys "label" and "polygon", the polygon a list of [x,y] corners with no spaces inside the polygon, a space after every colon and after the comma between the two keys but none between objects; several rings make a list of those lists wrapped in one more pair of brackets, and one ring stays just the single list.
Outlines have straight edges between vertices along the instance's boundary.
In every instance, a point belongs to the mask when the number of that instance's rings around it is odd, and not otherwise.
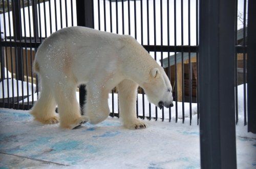
[{"label": "polar bear's lowered head with black nose and small ear", "polygon": [[174,106],[172,85],[162,67],[150,70],[149,78],[142,88],[145,90],[148,101],[160,109]]}]

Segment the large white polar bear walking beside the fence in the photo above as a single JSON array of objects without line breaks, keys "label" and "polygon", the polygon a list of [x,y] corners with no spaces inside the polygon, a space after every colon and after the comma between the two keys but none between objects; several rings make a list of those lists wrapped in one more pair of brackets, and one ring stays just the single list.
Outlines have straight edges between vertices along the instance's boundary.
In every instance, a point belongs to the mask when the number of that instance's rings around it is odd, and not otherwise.
[{"label": "large white polar bear walking beside the fence", "polygon": [[[39,46],[34,70],[40,76],[41,93],[30,113],[42,124],[60,121],[60,127],[73,129],[102,122],[109,116],[108,96],[115,86],[126,128],[147,127],[136,117],[138,85],[151,103],[173,106],[172,86],[163,68],[129,35],[84,27],[61,29]],[[87,89],[84,116],[76,99],[80,84]]]}]

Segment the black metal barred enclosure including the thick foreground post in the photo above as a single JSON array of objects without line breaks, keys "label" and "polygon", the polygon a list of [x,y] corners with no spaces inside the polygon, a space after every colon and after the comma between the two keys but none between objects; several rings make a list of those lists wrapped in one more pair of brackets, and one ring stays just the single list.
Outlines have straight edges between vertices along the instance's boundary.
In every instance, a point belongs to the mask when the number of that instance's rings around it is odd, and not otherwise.
[{"label": "black metal barred enclosure including the thick foreground post", "polygon": [[[146,102],[142,90],[137,115],[190,124],[200,117],[201,167],[236,168],[234,124],[244,119],[248,131],[256,132],[256,4],[248,1],[1,0],[0,107],[32,107],[40,92],[33,59],[40,43],[56,30],[86,26],[130,34],[165,68],[176,101],[175,109],[159,110]],[[79,91],[83,104],[86,91]],[[114,91],[110,98],[111,115],[119,116]]]}]

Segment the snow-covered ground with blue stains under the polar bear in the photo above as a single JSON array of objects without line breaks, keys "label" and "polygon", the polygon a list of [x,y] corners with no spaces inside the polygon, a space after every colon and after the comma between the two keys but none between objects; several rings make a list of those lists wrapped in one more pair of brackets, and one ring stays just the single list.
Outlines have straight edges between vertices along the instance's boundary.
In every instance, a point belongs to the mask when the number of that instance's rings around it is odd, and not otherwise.
[{"label": "snow-covered ground with blue stains under the polar bear", "polygon": [[[199,126],[154,120],[127,130],[109,117],[76,130],[41,125],[28,111],[0,109],[0,166],[7,168],[200,168]],[[195,121],[194,121],[195,122]],[[237,125],[238,168],[256,166],[256,135]]]}]

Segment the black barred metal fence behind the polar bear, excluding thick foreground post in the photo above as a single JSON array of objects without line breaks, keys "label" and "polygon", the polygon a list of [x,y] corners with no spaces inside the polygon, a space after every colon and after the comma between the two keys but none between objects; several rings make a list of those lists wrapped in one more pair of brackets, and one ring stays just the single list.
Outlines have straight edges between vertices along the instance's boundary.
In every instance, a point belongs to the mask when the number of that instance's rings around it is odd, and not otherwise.
[{"label": "black barred metal fence behind the polar bear, excluding thick foreground post", "polygon": [[[6,0],[2,0],[4,4]],[[143,90],[138,94],[137,115],[149,119],[196,117],[199,123],[199,2],[94,0],[20,0],[7,1],[1,14],[1,99],[5,108],[30,109],[38,97],[38,80],[32,70],[37,47],[53,32],[72,26],[86,26],[136,38],[165,68],[173,85],[175,108],[160,110],[146,102]],[[243,103],[239,102],[238,80],[246,84],[247,3],[237,3],[236,54],[234,55],[234,91],[236,120],[239,111],[247,124],[247,93],[243,85]],[[242,6],[242,8],[240,8]],[[241,10],[242,9],[242,10]],[[203,63],[202,63],[203,64]],[[239,68],[239,71],[238,69]],[[241,73],[242,72],[242,73]],[[240,80],[241,81],[241,80]],[[241,83],[241,82],[240,82]],[[80,103],[85,91],[80,87]],[[111,115],[119,116],[117,95],[112,91]],[[197,114],[197,115],[193,115]],[[189,118],[185,118],[189,117]],[[193,119],[194,120],[194,119]]]}]

